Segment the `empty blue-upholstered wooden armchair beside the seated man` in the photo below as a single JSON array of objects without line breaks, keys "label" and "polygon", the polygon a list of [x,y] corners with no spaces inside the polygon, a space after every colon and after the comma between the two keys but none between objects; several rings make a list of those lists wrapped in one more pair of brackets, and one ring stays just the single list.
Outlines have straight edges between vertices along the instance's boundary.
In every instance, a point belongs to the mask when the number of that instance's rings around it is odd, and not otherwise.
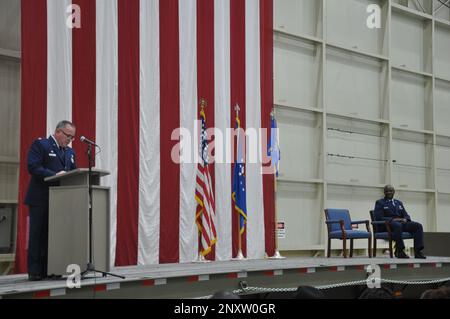
[{"label": "empty blue-upholstered wooden armchair beside the seated man", "polygon": [[[327,257],[330,257],[332,239],[342,240],[344,258],[347,258],[347,249],[346,249],[347,239],[350,239],[350,257],[353,257],[353,240],[366,238],[369,243],[369,245],[367,246],[369,251],[369,257],[372,258],[372,251],[371,251],[372,234],[370,233],[368,220],[352,221],[350,218],[350,213],[347,209],[328,208],[325,209],[325,223],[327,224],[328,229]],[[354,230],[352,228],[352,225],[358,224],[366,224],[367,231]]]}]

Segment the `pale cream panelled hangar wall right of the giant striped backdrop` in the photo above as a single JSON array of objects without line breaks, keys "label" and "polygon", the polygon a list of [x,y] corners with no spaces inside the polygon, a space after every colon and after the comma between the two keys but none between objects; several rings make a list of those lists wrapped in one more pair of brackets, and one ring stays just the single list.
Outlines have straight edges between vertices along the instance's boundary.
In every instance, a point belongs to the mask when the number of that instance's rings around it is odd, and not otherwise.
[{"label": "pale cream panelled hangar wall right of the giant striped backdrop", "polygon": [[449,8],[275,0],[274,11],[279,249],[323,255],[324,208],[369,219],[385,184],[425,231],[450,231]]}]

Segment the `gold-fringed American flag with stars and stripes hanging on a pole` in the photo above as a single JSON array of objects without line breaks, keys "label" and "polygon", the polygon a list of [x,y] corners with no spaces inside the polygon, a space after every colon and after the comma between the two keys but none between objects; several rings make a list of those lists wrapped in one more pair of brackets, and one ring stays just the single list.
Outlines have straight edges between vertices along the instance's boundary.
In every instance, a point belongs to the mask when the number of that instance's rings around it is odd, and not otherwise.
[{"label": "gold-fringed American flag with stars and stripes hanging on a pole", "polygon": [[206,114],[205,102],[202,103],[200,110],[201,132],[200,132],[200,161],[197,165],[197,179],[195,187],[195,200],[197,201],[197,212],[195,219],[198,231],[200,233],[199,253],[201,256],[207,256],[213,245],[217,241],[216,233],[216,214],[214,212],[214,192],[212,189],[211,174],[208,165],[208,135],[206,132]]}]

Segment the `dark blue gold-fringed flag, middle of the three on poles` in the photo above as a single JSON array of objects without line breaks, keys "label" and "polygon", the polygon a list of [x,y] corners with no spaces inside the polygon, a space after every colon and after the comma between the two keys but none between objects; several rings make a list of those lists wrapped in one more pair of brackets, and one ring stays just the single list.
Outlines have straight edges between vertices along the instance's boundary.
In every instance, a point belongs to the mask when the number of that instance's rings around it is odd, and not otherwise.
[{"label": "dark blue gold-fringed flag, middle of the three on poles", "polygon": [[[240,128],[239,117],[236,117],[236,128]],[[237,163],[234,164],[233,172],[233,203],[236,212],[239,213],[239,233],[242,235],[247,223],[247,199],[245,191],[245,164],[244,164],[244,143],[242,143],[240,130],[237,135]]]}]

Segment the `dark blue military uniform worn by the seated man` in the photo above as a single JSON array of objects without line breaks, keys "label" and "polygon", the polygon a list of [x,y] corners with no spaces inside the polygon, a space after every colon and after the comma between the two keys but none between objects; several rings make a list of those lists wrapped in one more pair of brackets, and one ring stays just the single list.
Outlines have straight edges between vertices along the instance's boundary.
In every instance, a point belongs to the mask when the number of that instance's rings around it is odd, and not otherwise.
[{"label": "dark blue military uniform worn by the seated man", "polygon": [[[395,240],[396,249],[405,249],[405,244],[402,239],[402,232],[413,234],[414,250],[416,254],[424,248],[423,244],[423,227],[418,222],[411,221],[411,217],[405,209],[405,206],[398,199],[382,198],[375,203],[375,219],[386,220],[392,229],[392,239]],[[404,218],[406,223],[393,221],[394,218]]]}]

